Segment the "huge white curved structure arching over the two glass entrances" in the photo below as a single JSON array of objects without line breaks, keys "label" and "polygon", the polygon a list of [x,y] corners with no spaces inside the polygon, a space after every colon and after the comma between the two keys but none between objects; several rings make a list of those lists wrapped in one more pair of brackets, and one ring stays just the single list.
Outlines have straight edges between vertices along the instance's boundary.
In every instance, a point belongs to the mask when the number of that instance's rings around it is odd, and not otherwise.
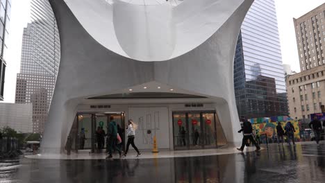
[{"label": "huge white curved structure arching over the two glass entrances", "polygon": [[[42,152],[63,152],[77,106],[85,98],[124,94],[130,88],[143,92],[143,86],[149,86],[145,92],[206,97],[188,101],[211,103],[228,143],[240,141],[233,58],[253,0],[184,0],[177,6],[125,1],[50,0],[61,61]],[[152,104],[150,99],[107,102]]]}]

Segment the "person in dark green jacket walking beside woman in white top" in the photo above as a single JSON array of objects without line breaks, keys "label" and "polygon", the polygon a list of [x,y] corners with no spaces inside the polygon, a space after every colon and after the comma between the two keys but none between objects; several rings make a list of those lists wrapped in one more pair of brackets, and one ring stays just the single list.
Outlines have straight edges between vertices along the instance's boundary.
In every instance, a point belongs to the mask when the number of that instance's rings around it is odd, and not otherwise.
[{"label": "person in dark green jacket walking beside woman in white top", "polygon": [[122,157],[122,151],[116,146],[117,145],[117,125],[114,121],[114,117],[110,116],[110,123],[108,124],[108,156],[106,159],[112,158],[113,150],[119,152],[119,158]]}]

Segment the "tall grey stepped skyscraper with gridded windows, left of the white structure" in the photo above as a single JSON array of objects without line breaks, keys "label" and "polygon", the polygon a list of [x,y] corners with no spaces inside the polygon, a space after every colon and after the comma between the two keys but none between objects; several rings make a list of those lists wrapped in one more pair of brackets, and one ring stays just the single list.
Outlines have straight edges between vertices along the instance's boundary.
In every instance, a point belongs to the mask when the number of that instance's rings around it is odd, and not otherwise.
[{"label": "tall grey stepped skyscraper with gridded windows, left of the white structure", "polygon": [[49,1],[32,1],[33,21],[24,28],[15,103],[33,104],[33,132],[42,133],[60,63],[60,38]]}]

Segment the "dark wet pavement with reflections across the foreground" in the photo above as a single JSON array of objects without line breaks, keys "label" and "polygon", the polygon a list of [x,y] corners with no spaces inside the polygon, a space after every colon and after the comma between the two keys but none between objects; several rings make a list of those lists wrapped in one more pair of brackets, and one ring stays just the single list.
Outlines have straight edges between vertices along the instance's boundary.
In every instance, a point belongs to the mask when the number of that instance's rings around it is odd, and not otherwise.
[{"label": "dark wet pavement with reflections across the foreground", "polygon": [[260,153],[115,160],[0,161],[0,182],[324,182],[325,144]]}]

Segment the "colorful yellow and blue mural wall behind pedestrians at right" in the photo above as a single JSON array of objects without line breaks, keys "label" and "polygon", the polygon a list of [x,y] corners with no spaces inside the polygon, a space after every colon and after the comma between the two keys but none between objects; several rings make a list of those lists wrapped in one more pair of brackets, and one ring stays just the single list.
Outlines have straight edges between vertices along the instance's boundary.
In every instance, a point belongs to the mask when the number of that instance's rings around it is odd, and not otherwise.
[{"label": "colorful yellow and blue mural wall behind pedestrians at right", "polygon": [[[299,132],[299,122],[297,120],[292,120],[288,116],[276,116],[271,118],[260,118],[260,119],[249,119],[249,121],[252,123],[253,130],[255,130],[256,135],[264,135],[266,134],[267,137],[272,138],[274,134],[276,134],[276,125],[278,125],[278,122],[275,121],[281,121],[281,126],[284,130],[285,124],[290,121],[292,125],[294,126],[294,138],[300,139],[300,132]],[[284,120],[285,119],[285,120]]]}]

